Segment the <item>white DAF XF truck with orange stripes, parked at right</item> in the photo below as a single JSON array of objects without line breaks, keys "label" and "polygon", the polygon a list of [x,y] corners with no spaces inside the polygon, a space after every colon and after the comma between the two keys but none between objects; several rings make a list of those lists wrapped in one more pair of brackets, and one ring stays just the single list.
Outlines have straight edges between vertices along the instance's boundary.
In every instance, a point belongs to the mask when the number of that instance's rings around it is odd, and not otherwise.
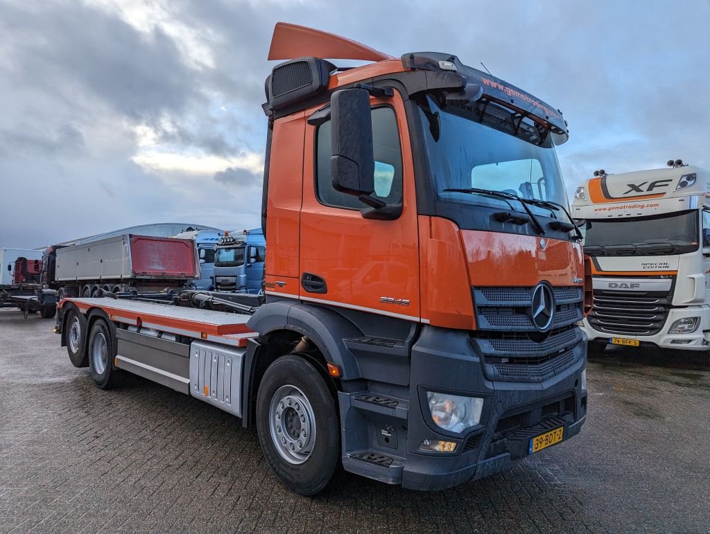
[{"label": "white DAF XF truck with orange stripes, parked at right", "polygon": [[667,165],[595,171],[574,193],[594,277],[584,319],[591,350],[710,349],[710,173],[682,160]]}]

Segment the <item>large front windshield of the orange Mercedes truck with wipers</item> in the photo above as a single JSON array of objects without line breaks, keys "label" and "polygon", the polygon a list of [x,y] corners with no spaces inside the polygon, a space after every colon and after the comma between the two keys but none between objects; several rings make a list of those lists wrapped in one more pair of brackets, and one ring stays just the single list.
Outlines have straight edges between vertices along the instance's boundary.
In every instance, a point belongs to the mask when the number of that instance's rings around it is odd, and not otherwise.
[{"label": "large front windshield of the orange Mercedes truck with wipers", "polygon": [[[457,205],[448,213],[461,228],[470,228],[466,217],[476,211],[472,206],[523,211],[518,201],[464,189],[503,191],[568,208],[552,135],[542,126],[493,103],[483,111],[471,106],[442,108],[427,96],[419,109],[437,204]],[[550,208],[529,207],[535,215],[567,219]]]}]

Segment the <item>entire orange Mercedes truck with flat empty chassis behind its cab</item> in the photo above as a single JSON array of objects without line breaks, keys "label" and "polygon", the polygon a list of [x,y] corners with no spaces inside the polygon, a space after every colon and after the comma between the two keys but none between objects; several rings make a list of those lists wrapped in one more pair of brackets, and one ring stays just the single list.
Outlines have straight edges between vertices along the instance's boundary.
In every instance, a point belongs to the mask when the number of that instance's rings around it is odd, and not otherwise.
[{"label": "entire orange Mercedes truck with flat empty chassis behind its cab", "polygon": [[447,488],[579,433],[591,275],[560,112],[449,54],[395,59],[301,26],[277,24],[269,59],[286,61],[266,81],[265,302],[65,299],[72,363],[256,425],[301,494],[339,462]]}]

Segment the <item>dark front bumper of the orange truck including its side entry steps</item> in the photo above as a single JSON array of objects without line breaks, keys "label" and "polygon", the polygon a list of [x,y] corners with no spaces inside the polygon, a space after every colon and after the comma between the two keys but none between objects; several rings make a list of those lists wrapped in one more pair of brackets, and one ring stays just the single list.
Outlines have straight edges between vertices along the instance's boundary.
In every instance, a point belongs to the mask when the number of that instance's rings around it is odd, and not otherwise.
[{"label": "dark front bumper of the orange truck including its side entry steps", "polygon": [[[562,441],[572,438],[586,418],[587,392],[581,389],[584,336],[574,350],[579,351],[578,360],[544,382],[493,382],[484,375],[468,333],[425,327],[412,349],[407,401],[395,402],[392,409],[368,407],[359,401],[361,393],[339,394],[345,469],[433,491],[505,469],[530,454],[530,438],[554,428],[564,427]],[[439,428],[432,421],[426,391],[484,398],[480,423],[464,433]],[[457,446],[454,452],[424,452],[419,450],[424,440]]]}]

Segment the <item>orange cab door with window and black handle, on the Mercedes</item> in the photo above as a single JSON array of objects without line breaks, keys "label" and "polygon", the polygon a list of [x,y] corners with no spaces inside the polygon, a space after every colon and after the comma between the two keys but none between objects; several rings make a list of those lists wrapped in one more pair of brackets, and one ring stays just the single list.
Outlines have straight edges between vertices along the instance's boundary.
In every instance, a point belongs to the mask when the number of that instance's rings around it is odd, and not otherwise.
[{"label": "orange cab door with window and black handle, on the Mercedes", "polygon": [[[306,116],[316,109],[307,112]],[[394,220],[364,218],[366,204],[337,191],[327,120],[306,126],[300,232],[300,299],[418,321],[420,273],[412,155],[403,103],[371,99],[375,191],[403,204]]]}]

